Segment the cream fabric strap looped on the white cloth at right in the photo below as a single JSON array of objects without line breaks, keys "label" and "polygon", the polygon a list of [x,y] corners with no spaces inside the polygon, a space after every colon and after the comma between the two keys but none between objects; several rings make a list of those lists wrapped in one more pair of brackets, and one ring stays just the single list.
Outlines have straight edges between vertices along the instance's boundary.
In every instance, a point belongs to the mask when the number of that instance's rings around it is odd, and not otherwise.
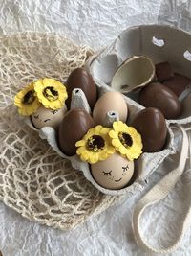
[{"label": "cream fabric strap looped on the white cloth at right", "polygon": [[[189,226],[189,223],[191,222],[191,206],[187,212],[187,215],[185,216],[184,221],[182,222],[182,226],[180,228],[180,233],[178,235],[178,238],[174,244],[167,248],[162,249],[156,249],[152,247],[150,244],[146,242],[146,240],[143,238],[140,230],[140,219],[142,217],[142,214],[144,210],[152,204],[155,204],[159,200],[165,198],[170,191],[173,190],[175,184],[180,179],[180,175],[182,175],[187,155],[188,155],[188,148],[190,145],[190,136],[188,137],[185,130],[190,130],[191,128],[184,129],[180,126],[180,131],[182,133],[182,144],[181,144],[181,151],[180,151],[180,162],[176,169],[174,169],[172,172],[170,172],[168,175],[165,175],[158,184],[156,184],[143,198],[141,198],[138,201],[138,204],[135,207],[134,213],[133,213],[133,230],[134,235],[137,243],[145,250],[150,252],[156,252],[156,253],[168,253],[175,250],[178,245],[180,244],[181,238],[183,234],[185,233],[186,229]],[[191,147],[189,150],[189,154],[191,155]],[[190,161],[191,164],[191,161]]]}]

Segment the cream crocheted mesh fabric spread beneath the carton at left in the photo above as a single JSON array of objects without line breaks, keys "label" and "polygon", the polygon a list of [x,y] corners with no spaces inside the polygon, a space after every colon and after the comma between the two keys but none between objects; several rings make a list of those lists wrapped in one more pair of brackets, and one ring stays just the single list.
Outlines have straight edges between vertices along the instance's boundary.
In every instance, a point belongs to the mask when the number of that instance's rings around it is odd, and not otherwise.
[{"label": "cream crocheted mesh fabric spread beneath the carton at left", "polygon": [[29,82],[64,81],[91,51],[63,35],[22,33],[0,37],[0,199],[22,216],[68,230],[122,197],[100,193],[70,161],[29,128],[12,104]]}]

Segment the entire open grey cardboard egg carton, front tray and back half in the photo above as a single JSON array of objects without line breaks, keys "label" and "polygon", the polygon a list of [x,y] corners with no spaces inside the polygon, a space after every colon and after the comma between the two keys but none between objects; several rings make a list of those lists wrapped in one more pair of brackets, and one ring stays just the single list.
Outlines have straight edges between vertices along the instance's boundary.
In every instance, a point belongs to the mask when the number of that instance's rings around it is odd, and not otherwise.
[{"label": "entire open grey cardboard egg carton, front tray and back half", "polygon": [[[176,72],[189,77],[191,62],[185,58],[185,53],[190,44],[191,36],[174,28],[159,25],[132,27],[118,35],[117,39],[98,55],[89,58],[86,68],[96,81],[99,97],[107,91],[114,90],[110,85],[117,68],[125,59],[133,56],[147,56],[152,58],[154,63],[169,61]],[[131,123],[135,115],[144,107],[139,105],[135,99],[125,95],[123,97],[129,109],[128,122]],[[179,119],[166,120],[168,134],[165,148],[159,152],[142,153],[135,161],[135,175],[131,185],[119,190],[109,190],[99,186],[91,175],[88,163],[82,162],[77,155],[67,156],[60,151],[56,141],[56,131],[53,128],[45,127],[37,131],[42,139],[48,141],[54,151],[61,157],[69,159],[76,172],[81,171],[99,191],[112,196],[126,194],[127,197],[131,197],[144,188],[146,179],[159,167],[160,163],[175,152],[174,135],[170,125],[191,122],[189,99],[186,99],[185,102],[184,112]],[[87,102],[84,103],[83,99],[74,101],[74,106],[86,108],[86,105]],[[87,110],[90,111],[90,109]],[[27,123],[33,128],[30,119],[27,120]]]}]

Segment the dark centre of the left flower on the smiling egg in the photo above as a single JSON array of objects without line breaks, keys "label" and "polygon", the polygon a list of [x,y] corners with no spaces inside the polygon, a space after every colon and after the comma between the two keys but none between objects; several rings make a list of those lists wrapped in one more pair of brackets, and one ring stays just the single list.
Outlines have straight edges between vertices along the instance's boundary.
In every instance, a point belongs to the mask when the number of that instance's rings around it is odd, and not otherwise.
[{"label": "dark centre of the left flower on the smiling egg", "polygon": [[105,146],[104,139],[99,135],[93,135],[87,141],[87,148],[89,151],[102,151]]}]

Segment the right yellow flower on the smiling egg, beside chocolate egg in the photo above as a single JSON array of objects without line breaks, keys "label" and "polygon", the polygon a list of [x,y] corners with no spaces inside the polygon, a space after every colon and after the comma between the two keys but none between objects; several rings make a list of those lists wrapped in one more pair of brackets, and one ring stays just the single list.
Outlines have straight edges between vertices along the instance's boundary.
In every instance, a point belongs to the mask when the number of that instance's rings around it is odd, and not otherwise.
[{"label": "right yellow flower on the smiling egg, beside chocolate egg", "polygon": [[128,127],[121,121],[113,123],[109,136],[116,151],[126,156],[130,161],[137,159],[142,153],[141,136],[135,128]]}]

